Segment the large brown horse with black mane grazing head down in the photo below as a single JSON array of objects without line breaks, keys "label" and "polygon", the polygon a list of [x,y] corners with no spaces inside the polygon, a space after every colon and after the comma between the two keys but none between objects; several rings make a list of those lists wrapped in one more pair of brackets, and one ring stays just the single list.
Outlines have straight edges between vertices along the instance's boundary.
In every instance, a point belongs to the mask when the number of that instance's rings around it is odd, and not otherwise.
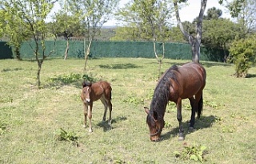
[{"label": "large brown horse with black mane grazing head down", "polygon": [[194,128],[195,111],[198,118],[202,113],[202,90],[206,85],[206,70],[201,64],[190,62],[182,66],[172,66],[166,70],[154,89],[154,96],[148,107],[146,123],[150,127],[151,141],[158,141],[164,127],[166,105],[173,101],[177,106],[177,119],[179,123],[178,139],[183,140],[182,127],[182,99],[188,98],[192,107],[190,128]]}]

